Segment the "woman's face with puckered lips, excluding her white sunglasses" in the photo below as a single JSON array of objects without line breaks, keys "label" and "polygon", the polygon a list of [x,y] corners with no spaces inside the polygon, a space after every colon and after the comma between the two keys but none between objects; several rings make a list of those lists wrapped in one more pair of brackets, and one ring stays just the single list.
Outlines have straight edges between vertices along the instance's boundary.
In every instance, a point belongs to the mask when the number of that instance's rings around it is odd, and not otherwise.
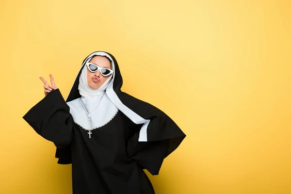
[{"label": "woman's face with puckered lips, excluding her white sunglasses", "polygon": [[[102,56],[95,56],[90,60],[90,63],[93,63],[99,67],[106,67],[111,69],[111,63],[109,61],[109,59],[107,59],[106,57],[102,57]],[[101,87],[101,85],[109,78],[110,76],[103,76],[100,73],[100,70],[97,70],[96,72],[92,73],[91,71],[89,71],[88,67],[87,67],[87,82],[90,88],[96,90],[99,87]]]}]

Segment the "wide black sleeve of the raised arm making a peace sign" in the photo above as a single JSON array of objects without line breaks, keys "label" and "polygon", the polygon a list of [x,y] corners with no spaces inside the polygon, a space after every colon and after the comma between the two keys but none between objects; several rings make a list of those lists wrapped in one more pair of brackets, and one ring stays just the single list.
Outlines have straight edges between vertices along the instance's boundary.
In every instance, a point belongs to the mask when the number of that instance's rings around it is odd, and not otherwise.
[{"label": "wide black sleeve of the raised arm making a peace sign", "polygon": [[59,89],[49,92],[23,116],[42,137],[57,147],[68,146],[72,139],[73,117]]}]

